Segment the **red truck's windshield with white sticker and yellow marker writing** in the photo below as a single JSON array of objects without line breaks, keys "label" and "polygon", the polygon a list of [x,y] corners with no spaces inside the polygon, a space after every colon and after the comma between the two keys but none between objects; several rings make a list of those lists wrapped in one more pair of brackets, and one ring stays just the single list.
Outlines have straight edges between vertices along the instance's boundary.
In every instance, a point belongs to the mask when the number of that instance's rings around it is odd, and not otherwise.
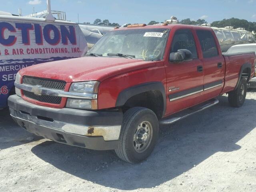
[{"label": "red truck's windshield with white sticker and yellow marker writing", "polygon": [[134,29],[105,34],[86,55],[162,60],[169,29]]}]

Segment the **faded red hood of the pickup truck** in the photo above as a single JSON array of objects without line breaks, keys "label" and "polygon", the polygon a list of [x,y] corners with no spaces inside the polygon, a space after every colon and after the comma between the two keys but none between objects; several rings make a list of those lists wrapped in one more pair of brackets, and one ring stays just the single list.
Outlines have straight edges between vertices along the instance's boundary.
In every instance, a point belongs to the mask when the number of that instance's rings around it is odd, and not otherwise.
[{"label": "faded red hood of the pickup truck", "polygon": [[19,73],[21,76],[58,79],[66,82],[103,81],[112,76],[155,65],[155,62],[138,59],[82,57],[37,64],[24,68]]}]

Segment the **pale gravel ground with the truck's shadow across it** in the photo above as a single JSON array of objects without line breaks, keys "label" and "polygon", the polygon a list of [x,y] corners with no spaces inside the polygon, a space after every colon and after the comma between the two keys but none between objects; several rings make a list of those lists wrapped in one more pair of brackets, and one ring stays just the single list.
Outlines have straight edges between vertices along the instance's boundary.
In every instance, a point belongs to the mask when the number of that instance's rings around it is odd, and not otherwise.
[{"label": "pale gravel ground with the truck's shadow across it", "polygon": [[212,108],[162,126],[141,164],[113,151],[58,144],[18,127],[0,111],[0,191],[256,191],[256,92],[242,108],[226,96]]}]

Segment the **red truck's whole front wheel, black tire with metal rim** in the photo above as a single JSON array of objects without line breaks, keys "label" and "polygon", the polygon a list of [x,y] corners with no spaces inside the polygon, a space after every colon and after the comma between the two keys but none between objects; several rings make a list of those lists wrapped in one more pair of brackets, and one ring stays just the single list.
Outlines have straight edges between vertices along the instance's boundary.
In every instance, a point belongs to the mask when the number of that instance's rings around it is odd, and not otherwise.
[{"label": "red truck's whole front wheel, black tire with metal rim", "polygon": [[158,129],[158,119],[152,110],[130,108],[124,113],[116,155],[132,164],[145,160],[156,145]]}]

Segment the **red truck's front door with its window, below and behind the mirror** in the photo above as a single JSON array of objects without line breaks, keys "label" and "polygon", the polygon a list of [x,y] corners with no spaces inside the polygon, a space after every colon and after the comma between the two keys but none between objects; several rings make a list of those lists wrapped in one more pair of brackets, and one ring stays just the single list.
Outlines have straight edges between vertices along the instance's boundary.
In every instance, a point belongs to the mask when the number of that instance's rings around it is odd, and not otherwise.
[{"label": "red truck's front door with its window, below and behind the mirror", "polygon": [[203,63],[197,52],[199,42],[194,38],[196,34],[187,27],[176,31],[173,29],[172,34],[170,52],[177,52],[179,49],[190,50],[193,60],[181,63],[165,62],[169,100],[166,114],[172,114],[199,103],[202,100],[204,79]]}]

